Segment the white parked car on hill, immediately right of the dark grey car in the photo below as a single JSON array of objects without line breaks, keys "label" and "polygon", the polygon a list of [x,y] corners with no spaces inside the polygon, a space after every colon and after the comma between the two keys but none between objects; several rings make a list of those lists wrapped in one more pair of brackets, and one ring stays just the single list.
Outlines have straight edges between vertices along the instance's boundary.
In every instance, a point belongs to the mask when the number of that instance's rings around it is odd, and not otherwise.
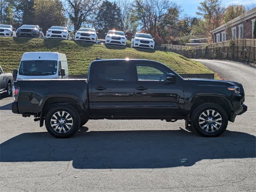
[{"label": "white parked car on hill, immediately right of the dark grey car", "polygon": [[66,39],[69,38],[69,31],[67,27],[61,26],[52,26],[50,29],[46,31],[47,38],[59,38],[59,39]]}]

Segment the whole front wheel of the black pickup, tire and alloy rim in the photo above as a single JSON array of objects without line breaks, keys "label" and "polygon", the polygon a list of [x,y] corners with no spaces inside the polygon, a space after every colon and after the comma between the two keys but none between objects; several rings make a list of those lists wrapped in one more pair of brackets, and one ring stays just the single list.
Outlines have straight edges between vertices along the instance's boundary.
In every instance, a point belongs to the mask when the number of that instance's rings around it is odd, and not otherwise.
[{"label": "whole front wheel of the black pickup, tire and alloy rim", "polygon": [[226,130],[228,115],[221,106],[205,103],[194,110],[191,122],[198,134],[205,137],[216,137]]}]

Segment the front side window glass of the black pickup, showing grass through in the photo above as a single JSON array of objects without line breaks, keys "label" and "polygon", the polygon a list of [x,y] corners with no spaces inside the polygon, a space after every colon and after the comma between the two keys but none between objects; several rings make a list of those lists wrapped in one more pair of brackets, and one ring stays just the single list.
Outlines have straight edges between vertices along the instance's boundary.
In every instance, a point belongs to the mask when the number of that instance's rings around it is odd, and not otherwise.
[{"label": "front side window glass of the black pickup, showing grass through", "polygon": [[137,65],[138,80],[164,81],[167,72],[153,66]]}]

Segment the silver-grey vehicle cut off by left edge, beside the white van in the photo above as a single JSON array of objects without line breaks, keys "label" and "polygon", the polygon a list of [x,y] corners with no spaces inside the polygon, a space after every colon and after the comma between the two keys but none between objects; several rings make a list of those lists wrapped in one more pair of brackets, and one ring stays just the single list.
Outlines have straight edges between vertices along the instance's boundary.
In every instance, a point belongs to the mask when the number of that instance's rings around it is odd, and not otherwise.
[{"label": "silver-grey vehicle cut off by left edge, beside the white van", "polygon": [[0,66],[0,92],[6,91],[8,96],[12,96],[12,74],[4,73]]}]

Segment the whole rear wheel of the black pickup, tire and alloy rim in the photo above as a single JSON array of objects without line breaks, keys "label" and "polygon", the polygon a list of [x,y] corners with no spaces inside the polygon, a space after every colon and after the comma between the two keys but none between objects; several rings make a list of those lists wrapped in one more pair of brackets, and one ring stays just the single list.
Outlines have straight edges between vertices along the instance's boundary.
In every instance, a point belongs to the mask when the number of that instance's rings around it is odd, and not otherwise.
[{"label": "whole rear wheel of the black pickup, tire and alloy rim", "polygon": [[[66,121],[64,121],[63,117]],[[54,121],[55,119],[57,119],[56,122]],[[53,107],[46,114],[45,126],[52,136],[56,138],[69,138],[80,127],[80,121],[78,112],[72,106],[60,105]]]}]

